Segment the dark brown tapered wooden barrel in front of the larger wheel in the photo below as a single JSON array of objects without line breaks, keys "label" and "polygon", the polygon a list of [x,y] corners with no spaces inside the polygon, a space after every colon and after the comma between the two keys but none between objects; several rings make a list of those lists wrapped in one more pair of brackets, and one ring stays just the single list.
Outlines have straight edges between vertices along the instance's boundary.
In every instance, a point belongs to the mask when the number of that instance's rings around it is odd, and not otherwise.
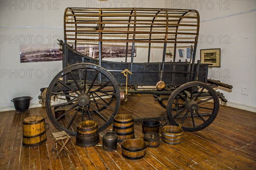
[{"label": "dark brown tapered wooden barrel in front of the larger wheel", "polygon": [[83,121],[77,125],[76,145],[91,147],[99,143],[99,128],[96,121]]}]

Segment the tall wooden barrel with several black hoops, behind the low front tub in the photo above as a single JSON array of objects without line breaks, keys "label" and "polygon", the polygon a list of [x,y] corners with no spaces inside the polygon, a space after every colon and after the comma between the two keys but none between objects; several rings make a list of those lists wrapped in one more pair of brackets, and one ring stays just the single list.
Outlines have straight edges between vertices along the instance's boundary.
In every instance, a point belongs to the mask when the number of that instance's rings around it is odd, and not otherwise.
[{"label": "tall wooden barrel with several black hoops, behind the low front tub", "polygon": [[113,131],[118,136],[119,142],[134,138],[134,118],[129,114],[120,114],[114,117]]}]

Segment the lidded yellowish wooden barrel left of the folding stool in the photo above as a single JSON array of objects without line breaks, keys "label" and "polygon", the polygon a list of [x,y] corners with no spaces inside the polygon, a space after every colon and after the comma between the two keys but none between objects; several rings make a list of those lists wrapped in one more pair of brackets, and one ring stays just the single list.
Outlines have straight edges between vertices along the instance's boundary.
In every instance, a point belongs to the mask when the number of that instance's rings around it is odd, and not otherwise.
[{"label": "lidded yellowish wooden barrel left of the folding stool", "polygon": [[47,140],[43,116],[31,116],[23,120],[23,146],[32,147]]}]

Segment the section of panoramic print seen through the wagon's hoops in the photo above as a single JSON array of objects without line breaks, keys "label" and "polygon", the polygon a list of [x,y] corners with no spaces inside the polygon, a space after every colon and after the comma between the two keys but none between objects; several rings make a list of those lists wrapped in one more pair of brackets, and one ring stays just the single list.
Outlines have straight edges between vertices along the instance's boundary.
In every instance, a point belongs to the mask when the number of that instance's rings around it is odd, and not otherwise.
[{"label": "section of panoramic print seen through the wagon's hoops", "polygon": [[[81,45],[76,50],[91,58],[99,58],[98,45]],[[126,46],[102,46],[102,58],[124,58],[126,55]],[[131,57],[131,46],[128,47],[127,57]],[[134,57],[136,57],[136,47],[134,48]]]}]

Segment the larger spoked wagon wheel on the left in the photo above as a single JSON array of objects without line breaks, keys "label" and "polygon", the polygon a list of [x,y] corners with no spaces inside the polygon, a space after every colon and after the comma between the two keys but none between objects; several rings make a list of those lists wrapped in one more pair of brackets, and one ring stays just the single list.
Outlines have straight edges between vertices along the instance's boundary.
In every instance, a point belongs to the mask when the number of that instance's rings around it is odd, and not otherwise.
[{"label": "larger spoked wagon wheel on the left", "polygon": [[77,63],[59,72],[46,93],[49,119],[59,130],[76,135],[85,120],[108,127],[120,106],[119,86],[110,72],[92,63]]}]

